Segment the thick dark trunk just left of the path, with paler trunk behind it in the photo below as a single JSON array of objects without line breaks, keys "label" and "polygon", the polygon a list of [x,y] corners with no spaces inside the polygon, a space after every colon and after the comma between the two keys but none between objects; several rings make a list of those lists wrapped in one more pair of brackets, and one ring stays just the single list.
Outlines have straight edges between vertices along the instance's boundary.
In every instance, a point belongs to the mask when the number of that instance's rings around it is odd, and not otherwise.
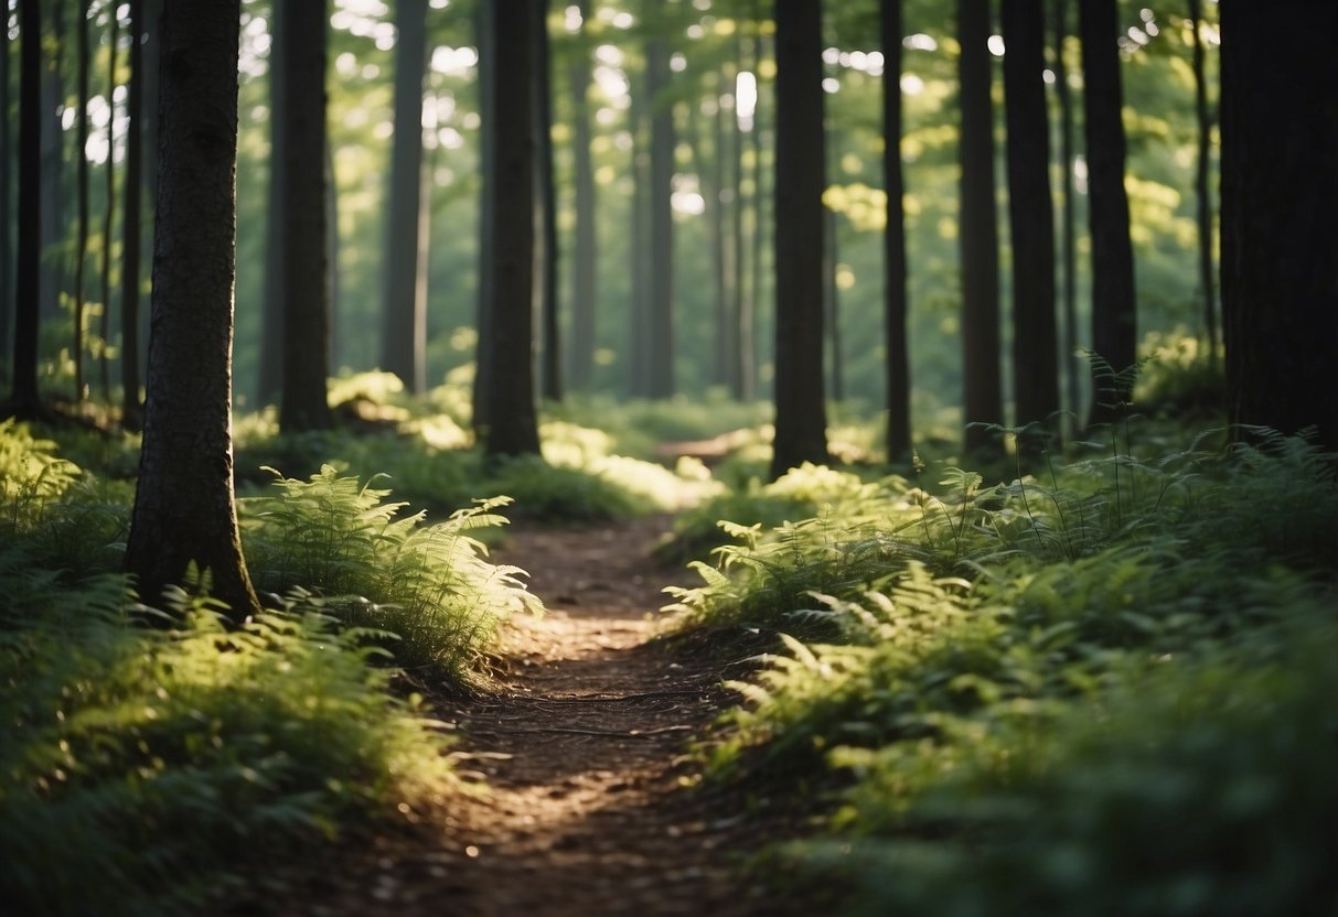
[{"label": "thick dark trunk just left of the path, with paler trunk behind it", "polygon": [[[523,0],[524,4],[539,0]],[[496,57],[487,68],[494,120],[491,221],[487,303],[491,334],[487,360],[494,368],[482,392],[487,408],[484,454],[538,454],[539,425],[534,404],[534,28],[526,5],[488,4]],[[503,66],[504,64],[504,66]]]}]

